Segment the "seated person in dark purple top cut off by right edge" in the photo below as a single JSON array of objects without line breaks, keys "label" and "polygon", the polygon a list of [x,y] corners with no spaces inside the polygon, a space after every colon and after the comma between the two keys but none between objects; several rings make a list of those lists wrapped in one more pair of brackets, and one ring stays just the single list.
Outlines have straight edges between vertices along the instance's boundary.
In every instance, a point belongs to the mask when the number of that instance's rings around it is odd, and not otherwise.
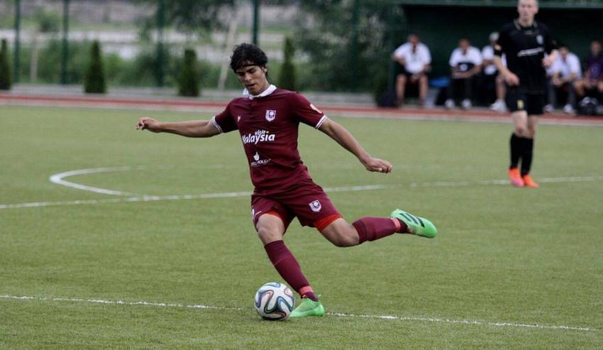
[{"label": "seated person in dark purple top cut off by right edge", "polygon": [[600,40],[592,40],[590,43],[590,55],[585,60],[585,76],[575,82],[575,88],[580,99],[585,96],[600,98],[603,94],[603,55]]}]

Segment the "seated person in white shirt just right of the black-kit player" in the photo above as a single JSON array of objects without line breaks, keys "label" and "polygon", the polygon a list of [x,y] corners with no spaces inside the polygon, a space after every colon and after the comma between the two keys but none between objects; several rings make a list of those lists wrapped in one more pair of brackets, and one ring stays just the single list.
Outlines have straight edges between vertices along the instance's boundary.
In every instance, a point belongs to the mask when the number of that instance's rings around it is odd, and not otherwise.
[{"label": "seated person in white shirt just right of the black-kit player", "polygon": [[551,84],[548,84],[548,104],[544,106],[545,111],[550,111],[556,107],[557,96],[559,93],[567,94],[568,98],[563,106],[563,111],[568,114],[575,114],[576,93],[574,84],[582,77],[580,69],[580,59],[570,53],[568,45],[559,46],[559,55],[551,67]]}]

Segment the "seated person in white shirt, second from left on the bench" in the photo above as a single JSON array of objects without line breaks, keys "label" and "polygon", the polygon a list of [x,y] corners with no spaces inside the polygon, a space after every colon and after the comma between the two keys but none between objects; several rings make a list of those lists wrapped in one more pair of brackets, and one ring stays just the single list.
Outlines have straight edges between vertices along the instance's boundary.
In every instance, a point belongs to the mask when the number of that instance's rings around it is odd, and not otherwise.
[{"label": "seated person in white shirt, second from left on the bench", "polygon": [[475,77],[482,71],[482,53],[478,48],[471,46],[468,38],[462,38],[458,41],[458,48],[450,55],[449,63],[452,79],[448,85],[446,108],[453,108],[455,99],[463,99],[461,106],[469,109],[472,106]]}]

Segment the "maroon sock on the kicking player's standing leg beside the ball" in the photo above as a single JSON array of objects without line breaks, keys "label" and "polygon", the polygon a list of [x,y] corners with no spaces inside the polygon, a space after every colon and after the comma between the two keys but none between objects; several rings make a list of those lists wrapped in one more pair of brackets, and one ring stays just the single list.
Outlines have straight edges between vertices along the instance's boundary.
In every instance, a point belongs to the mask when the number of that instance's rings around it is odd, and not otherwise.
[{"label": "maroon sock on the kicking player's standing leg beside the ball", "polygon": [[309,297],[311,300],[318,300],[314,295],[314,290],[302,273],[302,268],[295,260],[295,257],[284,245],[283,241],[274,241],[264,246],[268,258],[272,261],[281,277],[302,297]]}]

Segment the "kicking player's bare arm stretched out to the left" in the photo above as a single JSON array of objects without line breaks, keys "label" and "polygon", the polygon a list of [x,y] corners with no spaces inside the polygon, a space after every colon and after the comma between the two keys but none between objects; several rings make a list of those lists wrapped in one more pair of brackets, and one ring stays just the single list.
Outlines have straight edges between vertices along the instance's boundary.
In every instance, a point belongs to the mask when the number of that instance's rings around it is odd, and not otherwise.
[{"label": "kicking player's bare arm stretched out to the left", "polygon": [[148,130],[154,133],[175,133],[176,135],[187,137],[211,137],[220,133],[214,123],[207,120],[156,121],[148,116],[138,119],[136,130]]}]

